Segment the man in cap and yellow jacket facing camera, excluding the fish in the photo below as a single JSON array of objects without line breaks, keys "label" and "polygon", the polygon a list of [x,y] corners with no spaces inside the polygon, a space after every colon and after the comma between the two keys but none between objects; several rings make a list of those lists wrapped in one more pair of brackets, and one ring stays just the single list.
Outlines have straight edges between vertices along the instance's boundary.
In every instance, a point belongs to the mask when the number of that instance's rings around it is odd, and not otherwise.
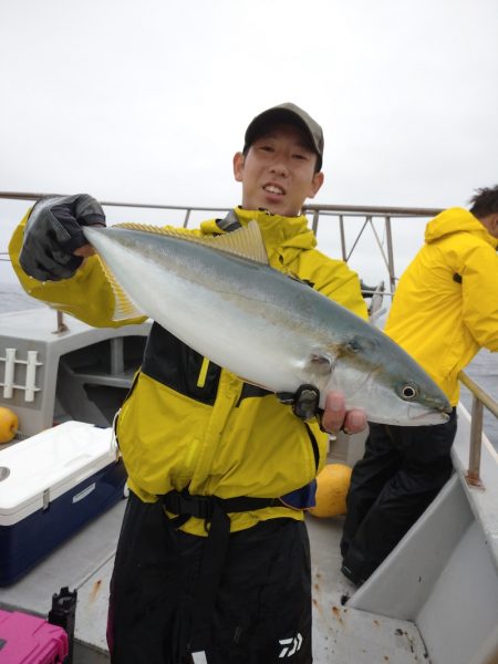
[{"label": "man in cap and yellow jacket facing camera, excluding the fish", "polygon": [[[241,207],[185,232],[230,232],[256,219],[273,268],[366,318],[357,276],[317,249],[301,214],[322,185],[322,129],[308,113],[289,103],[264,111],[234,159]],[[115,325],[81,230],[104,224],[87,195],[38,203],[10,245],[24,289],[92,325]],[[303,509],[325,430],[366,426],[338,392],[320,422],[313,396],[303,388],[282,400],[249,385],[153,324],[116,427],[131,495],[111,583],[113,663],[179,664],[196,651],[215,664],[312,662]]]}]

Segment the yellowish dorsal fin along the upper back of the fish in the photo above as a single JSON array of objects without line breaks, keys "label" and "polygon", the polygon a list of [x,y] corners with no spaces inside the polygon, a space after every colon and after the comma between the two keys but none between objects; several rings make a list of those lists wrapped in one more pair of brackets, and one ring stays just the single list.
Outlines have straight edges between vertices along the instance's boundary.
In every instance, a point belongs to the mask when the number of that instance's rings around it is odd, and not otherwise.
[{"label": "yellowish dorsal fin along the upper back of the fish", "polygon": [[238,256],[239,258],[248,258],[264,266],[269,264],[268,253],[261,237],[261,230],[258,222],[255,220],[249,221],[247,226],[242,226],[231,232],[219,236],[196,236],[172,226],[160,228],[158,226],[143,224],[116,224],[113,228],[127,228],[129,230],[141,230],[144,232],[178,238],[186,242],[210,247],[211,249],[222,251],[224,253],[230,253],[231,256]]}]

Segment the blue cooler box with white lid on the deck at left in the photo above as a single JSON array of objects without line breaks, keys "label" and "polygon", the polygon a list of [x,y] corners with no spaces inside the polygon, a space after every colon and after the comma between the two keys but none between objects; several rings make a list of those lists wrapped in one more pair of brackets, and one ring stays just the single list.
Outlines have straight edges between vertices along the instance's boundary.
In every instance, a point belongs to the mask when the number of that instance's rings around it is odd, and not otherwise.
[{"label": "blue cooler box with white lid on the deck at left", "polygon": [[65,422],[0,450],[0,585],[125,494],[112,428]]}]

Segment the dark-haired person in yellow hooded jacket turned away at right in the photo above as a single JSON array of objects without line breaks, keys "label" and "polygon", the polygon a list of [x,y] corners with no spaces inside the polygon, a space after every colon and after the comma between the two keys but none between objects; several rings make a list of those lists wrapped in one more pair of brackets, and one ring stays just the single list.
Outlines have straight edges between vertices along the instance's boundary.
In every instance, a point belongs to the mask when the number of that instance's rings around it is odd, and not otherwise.
[{"label": "dark-haired person in yellow hooded jacket turned away at right", "polygon": [[385,332],[448,396],[454,412],[434,427],[370,425],[354,467],[341,550],[343,573],[362,583],[393,550],[452,474],[458,372],[481,347],[498,351],[498,186],[478,189],[470,210],[432,219],[403,273]]}]

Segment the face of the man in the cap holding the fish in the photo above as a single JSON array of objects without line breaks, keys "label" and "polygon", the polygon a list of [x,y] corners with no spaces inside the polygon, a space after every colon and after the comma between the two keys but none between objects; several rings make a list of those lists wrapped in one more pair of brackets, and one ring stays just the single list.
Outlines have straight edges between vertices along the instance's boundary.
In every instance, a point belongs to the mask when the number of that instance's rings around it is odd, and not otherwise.
[{"label": "face of the man in the cap holding the fish", "polygon": [[234,157],[234,174],[242,183],[242,207],[264,208],[274,215],[295,217],[307,198],[323,183],[314,173],[317,154],[293,125],[272,125],[257,138],[246,156]]}]

